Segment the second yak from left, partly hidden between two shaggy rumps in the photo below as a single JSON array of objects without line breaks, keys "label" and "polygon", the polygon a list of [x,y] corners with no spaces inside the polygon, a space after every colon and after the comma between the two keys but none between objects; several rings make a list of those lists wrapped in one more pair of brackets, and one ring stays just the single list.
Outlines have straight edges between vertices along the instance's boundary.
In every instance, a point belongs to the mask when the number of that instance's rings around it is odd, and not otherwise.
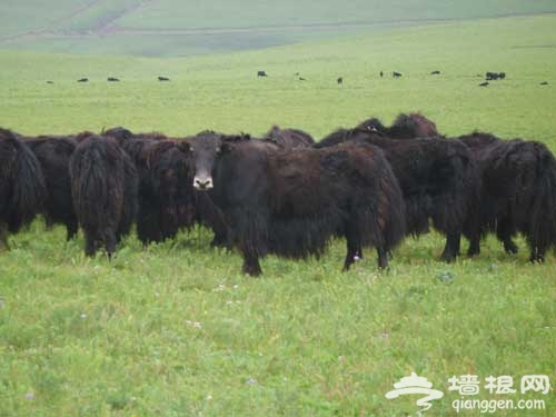
[{"label": "second yak from left, partly hidden between two shaggy rumps", "polygon": [[47,186],[44,221],[47,226],[66,226],[67,239],[72,239],[78,230],[78,220],[71,199],[69,163],[77,141],[70,136],[39,136],[24,138],[41,165]]}]

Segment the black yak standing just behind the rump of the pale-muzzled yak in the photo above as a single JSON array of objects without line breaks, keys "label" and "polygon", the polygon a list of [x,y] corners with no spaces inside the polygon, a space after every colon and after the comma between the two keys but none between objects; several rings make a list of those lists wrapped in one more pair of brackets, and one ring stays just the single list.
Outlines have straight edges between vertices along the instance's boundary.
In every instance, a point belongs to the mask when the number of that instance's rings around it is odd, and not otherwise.
[{"label": "black yak standing just behind the rump of the pale-muzzled yak", "polygon": [[459,255],[464,228],[478,234],[480,176],[464,143],[444,138],[396,140],[356,128],[337,130],[316,148],[344,142],[384,150],[404,192],[407,232],[427,232],[431,219],[433,227],[447,237],[443,260],[449,262]]}]

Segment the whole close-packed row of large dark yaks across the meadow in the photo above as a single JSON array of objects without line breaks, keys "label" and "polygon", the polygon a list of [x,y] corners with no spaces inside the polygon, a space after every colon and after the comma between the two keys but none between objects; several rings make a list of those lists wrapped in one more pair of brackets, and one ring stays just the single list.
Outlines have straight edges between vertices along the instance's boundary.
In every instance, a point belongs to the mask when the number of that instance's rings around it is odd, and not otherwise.
[{"label": "whole close-packed row of large dark yaks across the meadow", "polygon": [[109,257],[133,225],[147,246],[200,224],[254,276],[267,254],[318,257],[335,237],[347,241],[344,269],[364,247],[386,268],[405,236],[429,227],[446,237],[445,261],[460,254],[461,236],[474,256],[493,232],[509,254],[522,234],[535,262],[556,248],[556,160],[537,141],[445,138],[420,113],[390,127],[368,119],[319,141],[278,127],[259,139],[0,129],[0,248],[38,215],[64,225],[68,239],[80,227],[86,254],[103,247]]}]

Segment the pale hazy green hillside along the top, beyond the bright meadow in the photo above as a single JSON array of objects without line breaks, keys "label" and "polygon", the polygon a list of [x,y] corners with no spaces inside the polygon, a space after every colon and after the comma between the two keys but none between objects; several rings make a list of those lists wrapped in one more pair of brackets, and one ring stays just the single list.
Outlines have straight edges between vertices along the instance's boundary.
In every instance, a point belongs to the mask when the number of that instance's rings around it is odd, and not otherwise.
[{"label": "pale hazy green hillside along the top, beyond the bright meadow", "polygon": [[0,49],[191,56],[425,24],[556,12],[550,0],[14,0],[0,4]]}]

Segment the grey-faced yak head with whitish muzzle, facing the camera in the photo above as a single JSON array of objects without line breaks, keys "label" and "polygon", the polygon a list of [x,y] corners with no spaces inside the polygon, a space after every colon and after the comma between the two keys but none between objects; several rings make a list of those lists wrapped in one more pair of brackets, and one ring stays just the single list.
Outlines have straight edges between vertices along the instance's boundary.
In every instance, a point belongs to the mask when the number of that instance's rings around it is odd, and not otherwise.
[{"label": "grey-faced yak head with whitish muzzle, facing the camera", "polygon": [[203,131],[180,142],[180,149],[191,157],[196,190],[209,191],[215,187],[212,172],[218,160],[229,153],[235,142],[239,140],[249,140],[249,136],[226,136]]}]

